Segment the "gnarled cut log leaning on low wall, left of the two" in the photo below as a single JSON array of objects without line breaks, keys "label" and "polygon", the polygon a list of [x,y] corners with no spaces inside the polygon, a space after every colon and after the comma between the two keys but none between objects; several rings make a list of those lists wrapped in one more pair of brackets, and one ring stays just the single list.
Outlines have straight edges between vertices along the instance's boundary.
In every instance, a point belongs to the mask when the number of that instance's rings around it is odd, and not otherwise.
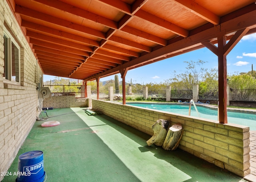
[{"label": "gnarled cut log leaning on low wall, left of the two", "polygon": [[156,123],[152,125],[154,135],[147,141],[148,146],[152,145],[153,143],[157,146],[162,146],[167,134],[168,127],[169,121],[158,119]]}]

